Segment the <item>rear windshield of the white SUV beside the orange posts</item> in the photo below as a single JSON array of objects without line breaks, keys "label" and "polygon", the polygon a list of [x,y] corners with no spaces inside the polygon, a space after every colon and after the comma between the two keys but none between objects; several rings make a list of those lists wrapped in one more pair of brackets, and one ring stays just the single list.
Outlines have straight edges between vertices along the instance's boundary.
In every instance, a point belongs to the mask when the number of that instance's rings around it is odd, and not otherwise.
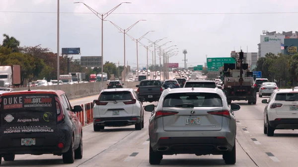
[{"label": "rear windshield of the white SUV beside the orange posts", "polygon": [[132,95],[129,91],[117,91],[117,92],[102,92],[99,96],[99,101],[118,101],[118,100],[132,100]]}]

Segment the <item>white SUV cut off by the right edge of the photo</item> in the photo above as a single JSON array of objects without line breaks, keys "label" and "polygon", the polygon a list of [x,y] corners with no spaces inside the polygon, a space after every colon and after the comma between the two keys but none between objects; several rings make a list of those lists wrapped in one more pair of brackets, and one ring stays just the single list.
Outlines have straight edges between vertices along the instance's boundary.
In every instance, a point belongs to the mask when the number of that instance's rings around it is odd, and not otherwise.
[{"label": "white SUV cut off by the right edge of the photo", "polygon": [[275,129],[298,129],[298,91],[274,90],[264,109],[264,134],[273,136]]}]

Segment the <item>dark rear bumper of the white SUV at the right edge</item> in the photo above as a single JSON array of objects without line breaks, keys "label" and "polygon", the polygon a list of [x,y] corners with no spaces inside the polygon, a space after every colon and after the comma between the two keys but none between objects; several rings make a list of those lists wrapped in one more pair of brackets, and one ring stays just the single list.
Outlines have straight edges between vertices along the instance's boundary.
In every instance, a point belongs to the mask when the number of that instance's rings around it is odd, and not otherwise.
[{"label": "dark rear bumper of the white SUV at the right edge", "polygon": [[298,118],[270,120],[269,125],[275,129],[298,129]]}]

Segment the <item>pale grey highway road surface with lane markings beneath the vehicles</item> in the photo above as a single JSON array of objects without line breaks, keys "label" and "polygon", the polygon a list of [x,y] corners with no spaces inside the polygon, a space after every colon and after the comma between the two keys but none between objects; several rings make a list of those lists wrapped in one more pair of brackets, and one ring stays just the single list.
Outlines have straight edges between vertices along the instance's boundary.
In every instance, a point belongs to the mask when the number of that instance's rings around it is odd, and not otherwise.
[{"label": "pale grey highway road surface with lane markings beneath the vehicles", "polygon": [[[92,102],[98,95],[74,99],[72,105]],[[236,164],[224,165],[222,156],[173,155],[164,156],[160,167],[297,167],[298,130],[276,130],[273,137],[263,134],[262,99],[256,105],[236,101],[241,109],[237,119]],[[148,105],[145,103],[144,105]],[[152,103],[156,105],[155,103]],[[63,164],[62,157],[53,155],[16,155],[15,161],[4,162],[7,167],[150,167],[148,119],[145,128],[135,131],[134,126],[107,127],[94,132],[93,126],[83,128],[83,158],[74,164]]]}]

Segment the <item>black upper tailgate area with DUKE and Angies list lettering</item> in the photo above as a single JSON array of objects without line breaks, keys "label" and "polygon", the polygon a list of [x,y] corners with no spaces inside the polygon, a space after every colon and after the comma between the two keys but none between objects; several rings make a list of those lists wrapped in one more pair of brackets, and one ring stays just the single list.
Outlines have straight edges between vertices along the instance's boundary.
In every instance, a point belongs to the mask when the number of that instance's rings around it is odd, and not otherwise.
[{"label": "black upper tailgate area with DUKE and Angies list lettering", "polygon": [[[58,105],[57,105],[58,106]],[[52,94],[18,94],[1,97],[1,126],[56,124],[56,102]]]}]

